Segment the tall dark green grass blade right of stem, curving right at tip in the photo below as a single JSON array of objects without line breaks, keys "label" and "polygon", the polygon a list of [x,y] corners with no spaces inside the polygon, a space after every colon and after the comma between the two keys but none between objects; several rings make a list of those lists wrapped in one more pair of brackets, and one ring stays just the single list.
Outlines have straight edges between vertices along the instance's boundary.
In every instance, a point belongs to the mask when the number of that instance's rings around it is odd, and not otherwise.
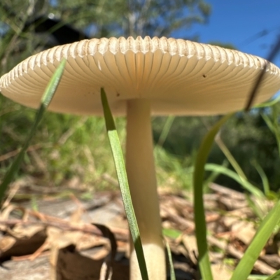
[{"label": "tall dark green grass blade right of stem, curving right at tip", "polygon": [[193,176],[195,196],[195,234],[197,237],[200,272],[202,274],[203,280],[213,279],[207,248],[207,228],[203,204],[204,165],[207,162],[207,158],[214,143],[216,134],[220,130],[221,126],[230,118],[230,116],[232,116],[232,114],[223,117],[218,121],[218,123],[216,123],[214,127],[211,128],[211,130],[209,130],[207,135],[204,137],[202,144],[200,145],[200,149],[197,153],[197,159],[195,161],[195,172]]}]

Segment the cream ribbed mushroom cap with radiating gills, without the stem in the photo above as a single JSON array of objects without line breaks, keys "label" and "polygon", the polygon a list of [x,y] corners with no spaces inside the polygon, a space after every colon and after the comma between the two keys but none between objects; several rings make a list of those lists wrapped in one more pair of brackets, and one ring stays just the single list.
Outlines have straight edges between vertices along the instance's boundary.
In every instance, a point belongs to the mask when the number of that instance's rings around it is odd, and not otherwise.
[{"label": "cream ribbed mushroom cap with radiating gills, without the stem", "polygon": [[243,109],[267,63],[255,103],[280,89],[280,69],[265,59],[174,38],[93,38],[33,55],[0,79],[6,97],[37,108],[62,58],[64,76],[50,111],[102,115],[100,88],[111,109],[125,115],[127,100],[150,99],[153,115],[213,115]]}]

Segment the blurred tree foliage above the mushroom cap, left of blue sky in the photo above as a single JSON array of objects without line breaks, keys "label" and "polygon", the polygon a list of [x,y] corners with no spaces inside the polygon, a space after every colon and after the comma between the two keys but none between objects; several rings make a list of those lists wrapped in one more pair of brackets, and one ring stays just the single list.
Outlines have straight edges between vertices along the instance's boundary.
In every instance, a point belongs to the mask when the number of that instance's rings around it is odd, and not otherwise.
[{"label": "blurred tree foliage above the mushroom cap, left of blue sky", "polygon": [[55,44],[48,32],[35,33],[43,20],[32,22],[41,15],[62,20],[50,32],[68,24],[94,38],[170,36],[178,29],[188,29],[194,22],[205,22],[210,10],[204,0],[1,1],[0,75],[29,55]]}]

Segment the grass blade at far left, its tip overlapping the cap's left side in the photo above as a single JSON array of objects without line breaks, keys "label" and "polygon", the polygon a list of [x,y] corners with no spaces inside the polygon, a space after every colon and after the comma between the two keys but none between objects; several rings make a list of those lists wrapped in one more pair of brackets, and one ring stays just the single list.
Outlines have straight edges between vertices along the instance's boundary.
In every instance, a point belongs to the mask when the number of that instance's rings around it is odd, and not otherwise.
[{"label": "grass blade at far left, its tip overlapping the cap's left side", "polygon": [[48,83],[47,87],[45,88],[45,92],[41,99],[41,106],[36,112],[34,123],[31,127],[31,130],[29,131],[29,134],[27,135],[27,138],[25,139],[25,143],[23,144],[20,153],[18,153],[17,157],[15,158],[12,165],[8,169],[8,172],[5,174],[3,181],[0,185],[0,202],[2,202],[10,182],[13,181],[15,174],[18,172],[18,169],[20,168],[20,163],[22,162],[22,158],[25,155],[25,151],[29,147],[29,143],[32,137],[34,136],[38,124],[40,123],[43,117],[43,113],[45,113],[45,110],[48,108],[48,105],[52,101],[52,97],[54,96],[55,91],[57,90],[57,86],[59,85],[59,81],[62,78],[65,64],[66,64],[66,59],[63,59],[62,62],[57,67],[57,69],[55,70],[55,73],[50,79],[50,82]]}]

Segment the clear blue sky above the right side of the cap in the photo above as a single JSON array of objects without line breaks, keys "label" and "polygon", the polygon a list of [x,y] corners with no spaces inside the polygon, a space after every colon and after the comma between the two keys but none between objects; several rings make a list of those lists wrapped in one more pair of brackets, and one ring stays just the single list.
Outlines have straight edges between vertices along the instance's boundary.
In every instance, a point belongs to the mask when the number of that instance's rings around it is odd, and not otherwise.
[{"label": "clear blue sky above the right side of the cap", "polygon": [[[238,50],[267,57],[272,44],[280,35],[279,0],[205,0],[212,6],[206,25],[193,25],[191,35],[200,36],[200,42],[232,43]],[[265,36],[257,38],[261,32]],[[180,37],[180,34],[176,34]],[[274,59],[280,66],[280,55]]]}]

